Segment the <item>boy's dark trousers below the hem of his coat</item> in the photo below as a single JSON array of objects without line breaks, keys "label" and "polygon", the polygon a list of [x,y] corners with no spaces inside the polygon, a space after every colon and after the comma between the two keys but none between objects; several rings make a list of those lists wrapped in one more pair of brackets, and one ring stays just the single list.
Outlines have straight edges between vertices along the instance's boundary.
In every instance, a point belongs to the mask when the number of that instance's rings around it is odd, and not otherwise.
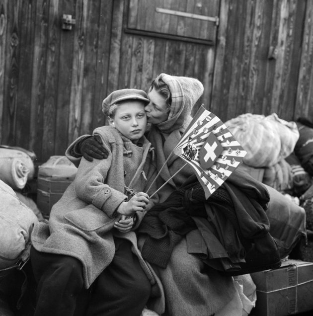
[{"label": "boy's dark trousers below the hem of his coat", "polygon": [[34,316],[140,316],[151,292],[131,242],[116,238],[110,265],[89,289],[83,286],[81,262],[71,256],[31,248],[38,283]]}]

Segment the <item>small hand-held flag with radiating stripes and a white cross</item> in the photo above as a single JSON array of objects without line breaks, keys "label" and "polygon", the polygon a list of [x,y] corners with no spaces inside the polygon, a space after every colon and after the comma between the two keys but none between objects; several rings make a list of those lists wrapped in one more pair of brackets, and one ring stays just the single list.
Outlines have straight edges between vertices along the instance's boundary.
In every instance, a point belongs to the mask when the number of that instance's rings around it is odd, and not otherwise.
[{"label": "small hand-held flag with radiating stripes and a white cross", "polygon": [[246,155],[226,125],[203,106],[195,114],[173,153],[193,167],[207,199]]}]

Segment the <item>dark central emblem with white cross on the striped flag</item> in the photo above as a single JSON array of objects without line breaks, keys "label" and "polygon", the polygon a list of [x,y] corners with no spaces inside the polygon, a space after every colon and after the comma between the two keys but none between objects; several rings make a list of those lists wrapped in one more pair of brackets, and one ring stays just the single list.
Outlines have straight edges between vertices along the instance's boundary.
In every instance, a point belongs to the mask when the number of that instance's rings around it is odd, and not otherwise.
[{"label": "dark central emblem with white cross on the striped flag", "polygon": [[211,132],[200,149],[199,162],[202,168],[211,168],[222,152],[223,146],[217,137]]}]

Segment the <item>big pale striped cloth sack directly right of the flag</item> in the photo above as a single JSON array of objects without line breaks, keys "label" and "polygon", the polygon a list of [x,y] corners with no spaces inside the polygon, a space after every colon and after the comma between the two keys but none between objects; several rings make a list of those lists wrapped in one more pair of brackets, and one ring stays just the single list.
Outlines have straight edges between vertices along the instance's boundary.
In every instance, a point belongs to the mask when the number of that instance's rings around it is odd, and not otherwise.
[{"label": "big pale striped cloth sack directly right of the flag", "polygon": [[289,156],[299,138],[295,122],[286,122],[275,113],[265,117],[241,114],[226,126],[247,152],[243,162],[252,167],[268,167]]}]

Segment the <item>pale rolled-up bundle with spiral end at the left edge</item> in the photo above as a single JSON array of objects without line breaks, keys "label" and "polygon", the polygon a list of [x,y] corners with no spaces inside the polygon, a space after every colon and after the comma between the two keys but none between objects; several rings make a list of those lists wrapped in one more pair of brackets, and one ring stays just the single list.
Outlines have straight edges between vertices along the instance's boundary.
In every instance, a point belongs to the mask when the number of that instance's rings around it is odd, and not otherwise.
[{"label": "pale rolled-up bundle with spiral end at the left edge", "polygon": [[25,152],[0,148],[0,180],[14,190],[22,189],[34,176],[33,160]]}]

